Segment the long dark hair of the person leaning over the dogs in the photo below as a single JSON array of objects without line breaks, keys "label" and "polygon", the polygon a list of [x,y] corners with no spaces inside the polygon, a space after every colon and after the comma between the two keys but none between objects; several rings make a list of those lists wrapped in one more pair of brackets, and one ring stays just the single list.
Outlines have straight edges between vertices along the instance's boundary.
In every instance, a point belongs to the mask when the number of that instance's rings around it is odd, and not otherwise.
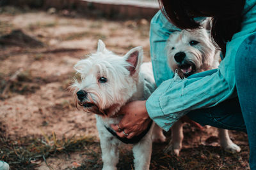
[{"label": "long dark hair of the person leaning over the dogs", "polygon": [[245,0],[158,0],[164,16],[180,29],[195,29],[200,25],[195,17],[212,17],[211,36],[223,56],[227,41],[240,31]]}]

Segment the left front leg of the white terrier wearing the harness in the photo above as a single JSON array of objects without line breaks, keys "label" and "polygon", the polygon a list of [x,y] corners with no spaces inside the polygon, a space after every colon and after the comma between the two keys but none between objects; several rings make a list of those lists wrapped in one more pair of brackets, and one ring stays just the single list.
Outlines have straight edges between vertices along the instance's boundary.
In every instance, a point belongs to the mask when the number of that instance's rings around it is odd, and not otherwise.
[{"label": "left front leg of the white terrier wearing the harness", "polygon": [[118,146],[111,138],[100,138],[100,148],[102,151],[103,170],[115,170],[119,159]]}]

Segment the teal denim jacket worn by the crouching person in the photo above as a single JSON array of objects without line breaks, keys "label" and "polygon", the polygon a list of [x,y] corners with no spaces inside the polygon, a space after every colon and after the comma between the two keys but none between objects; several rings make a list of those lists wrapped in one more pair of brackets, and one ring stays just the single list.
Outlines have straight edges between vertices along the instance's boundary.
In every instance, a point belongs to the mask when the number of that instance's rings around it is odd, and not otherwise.
[{"label": "teal denim jacket worn by the crouching person", "polygon": [[173,78],[166,60],[166,40],[179,31],[158,11],[150,25],[150,55],[157,89],[148,98],[148,115],[157,125],[168,131],[191,110],[216,106],[237,96],[234,73],[237,49],[245,38],[256,31],[256,0],[246,0],[241,31],[227,43],[225,59],[211,75],[180,80]]}]

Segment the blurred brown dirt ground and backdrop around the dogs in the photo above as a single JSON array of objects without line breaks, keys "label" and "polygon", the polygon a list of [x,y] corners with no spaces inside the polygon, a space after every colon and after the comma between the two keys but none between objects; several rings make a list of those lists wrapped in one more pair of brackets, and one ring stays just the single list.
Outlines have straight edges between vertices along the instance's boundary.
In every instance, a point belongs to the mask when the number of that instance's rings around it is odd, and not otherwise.
[{"label": "blurred brown dirt ground and backdrop around the dogs", "polygon": [[[102,39],[124,55],[143,46],[150,61],[156,0],[0,0],[0,160],[11,169],[101,169],[93,114],[77,110],[68,87],[74,64]],[[165,132],[170,140],[170,132]],[[225,152],[216,129],[184,125],[179,157],[154,144],[150,169],[248,169],[243,132],[230,131],[241,153]],[[118,169],[133,169],[131,148]]]}]

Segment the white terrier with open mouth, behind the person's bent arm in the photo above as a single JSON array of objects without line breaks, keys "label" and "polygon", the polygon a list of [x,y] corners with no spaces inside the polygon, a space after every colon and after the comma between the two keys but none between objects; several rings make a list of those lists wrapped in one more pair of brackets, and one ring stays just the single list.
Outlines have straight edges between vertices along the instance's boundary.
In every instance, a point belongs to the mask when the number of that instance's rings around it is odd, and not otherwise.
[{"label": "white terrier with open mouth, behind the person's bent arm", "polygon": [[[186,78],[194,73],[215,69],[220,64],[220,51],[212,44],[207,29],[193,29],[173,32],[166,45],[168,64],[173,73]],[[241,148],[234,144],[228,131],[218,129],[220,145],[231,152],[240,152]],[[182,122],[179,120],[172,126],[172,140],[166,151],[179,155],[182,148]]]}]

